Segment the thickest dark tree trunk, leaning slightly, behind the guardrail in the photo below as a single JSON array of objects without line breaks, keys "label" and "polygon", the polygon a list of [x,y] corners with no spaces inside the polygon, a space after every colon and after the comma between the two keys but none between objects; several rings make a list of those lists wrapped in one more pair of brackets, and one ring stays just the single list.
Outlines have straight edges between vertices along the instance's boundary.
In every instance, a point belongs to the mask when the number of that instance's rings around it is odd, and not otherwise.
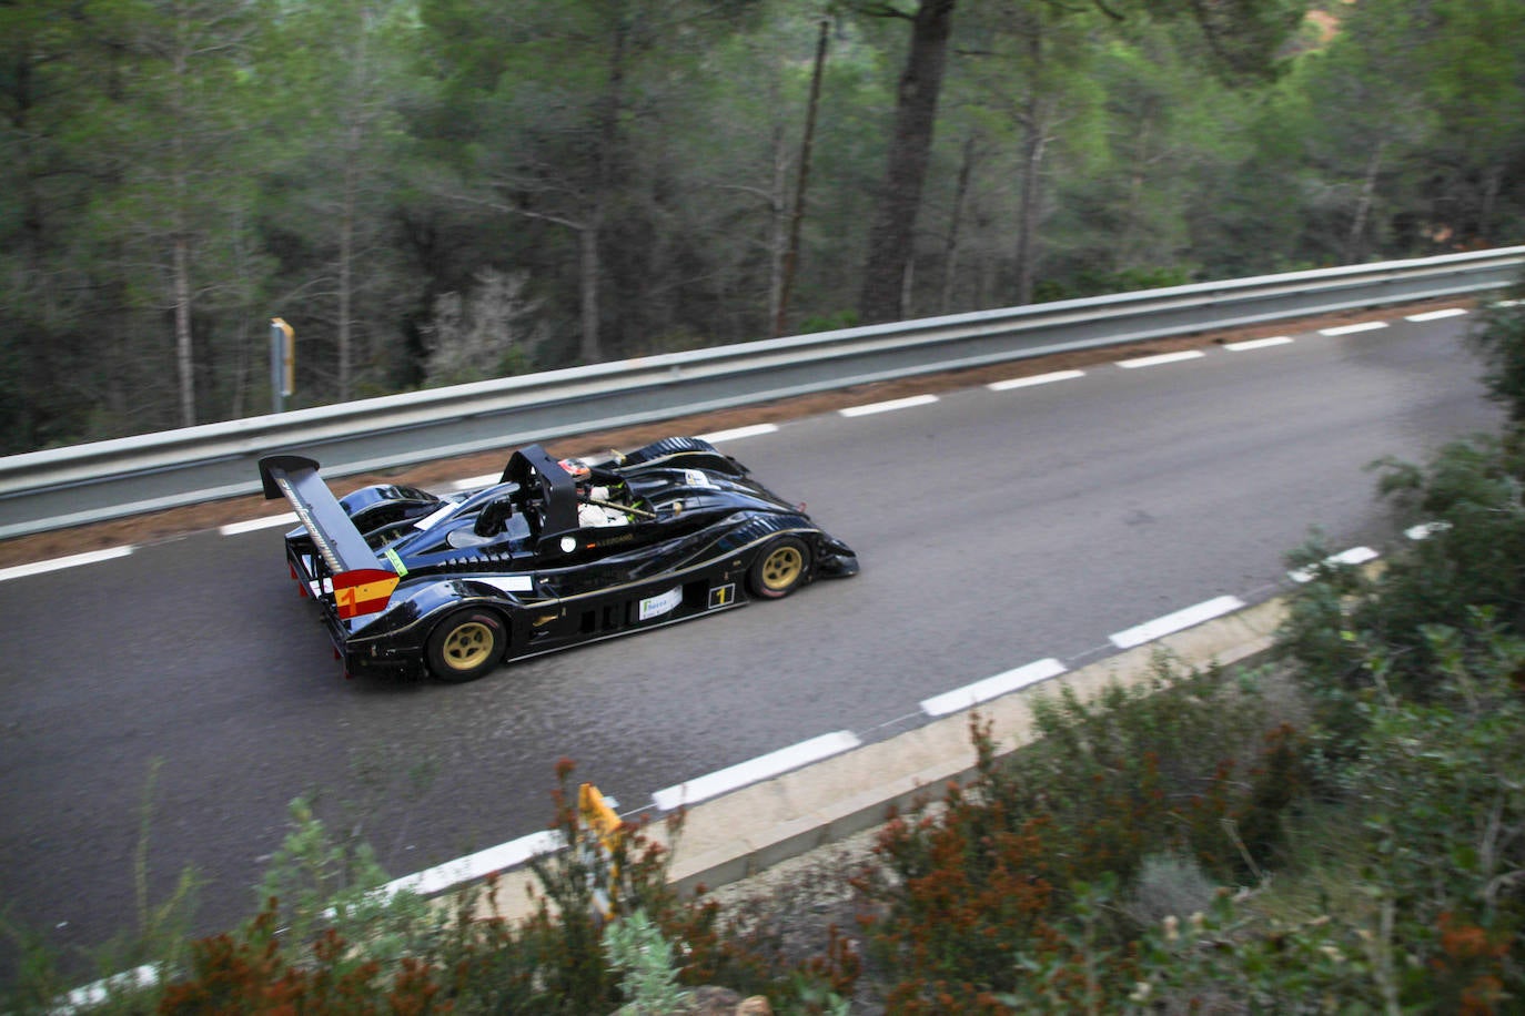
[{"label": "thickest dark tree trunk, leaning slightly, behind the guardrail", "polygon": [[900,76],[895,133],[878,210],[869,230],[859,320],[892,321],[904,303],[903,283],[917,235],[917,212],[932,155],[938,93],[947,65],[956,0],[921,0],[912,21],[910,52]]}]

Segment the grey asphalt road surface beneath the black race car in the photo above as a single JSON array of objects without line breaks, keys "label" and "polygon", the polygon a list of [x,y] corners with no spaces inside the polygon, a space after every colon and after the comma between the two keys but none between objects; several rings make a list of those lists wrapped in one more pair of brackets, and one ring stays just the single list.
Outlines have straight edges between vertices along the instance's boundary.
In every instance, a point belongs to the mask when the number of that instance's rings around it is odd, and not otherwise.
[{"label": "grey asphalt road surface beneath the black race car", "polygon": [[220,929],[252,912],[300,794],[407,874],[541,829],[561,757],[631,809],[817,734],[920,724],[921,699],[1039,658],[1090,663],[1217,596],[1266,599],[1310,527],[1331,550],[1401,539],[1368,462],[1499,419],[1466,323],[737,440],[859,577],[468,685],[345,681],[278,529],[0,582],[0,906],[67,951],[130,928],[146,816],[151,899],[192,865],[198,926]]}]

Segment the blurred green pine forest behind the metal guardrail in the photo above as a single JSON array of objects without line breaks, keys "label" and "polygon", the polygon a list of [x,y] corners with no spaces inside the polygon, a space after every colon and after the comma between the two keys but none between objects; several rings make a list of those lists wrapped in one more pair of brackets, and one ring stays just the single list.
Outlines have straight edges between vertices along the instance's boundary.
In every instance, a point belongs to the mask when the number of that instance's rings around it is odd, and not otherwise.
[{"label": "blurred green pine forest behind the metal guardrail", "polygon": [[5,0],[0,454],[1525,236],[1525,0]]}]

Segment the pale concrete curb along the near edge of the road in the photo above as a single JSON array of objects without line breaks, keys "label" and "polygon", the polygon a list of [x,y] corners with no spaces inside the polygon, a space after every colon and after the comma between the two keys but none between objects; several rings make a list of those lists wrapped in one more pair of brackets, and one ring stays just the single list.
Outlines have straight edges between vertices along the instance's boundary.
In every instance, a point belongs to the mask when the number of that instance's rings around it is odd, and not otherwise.
[{"label": "pale concrete curb along the near edge of the road", "polygon": [[[653,824],[648,836],[673,848],[669,874],[680,893],[740,882],[781,861],[880,826],[918,798],[935,797],[949,781],[967,783],[976,762],[968,736],[974,711],[993,724],[997,752],[1006,754],[1034,739],[1034,696],[1069,687],[1089,699],[1112,682],[1130,685],[1148,679],[1161,658],[1188,669],[1250,663],[1270,649],[1284,617],[1281,599],[1244,608],[903,734],[702,801],[688,809],[676,842],[666,842],[660,824]],[[496,897],[494,915],[526,917],[540,899],[538,882],[528,868],[506,871],[499,877]]]}]

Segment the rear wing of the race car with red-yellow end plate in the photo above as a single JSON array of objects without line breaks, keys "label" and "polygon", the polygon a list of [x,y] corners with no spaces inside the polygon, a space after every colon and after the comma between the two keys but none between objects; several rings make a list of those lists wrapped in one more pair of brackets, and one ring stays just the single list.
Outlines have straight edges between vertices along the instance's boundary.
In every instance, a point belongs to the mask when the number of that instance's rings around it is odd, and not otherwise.
[{"label": "rear wing of the race car with red-yellow end plate", "polygon": [[303,580],[316,580],[322,589],[328,585],[323,579],[329,579],[340,620],[386,609],[401,576],[366,544],[339,498],[317,475],[317,462],[305,455],[265,455],[259,460],[259,480],[265,498],[284,497],[307,529],[322,570],[314,568]]}]

